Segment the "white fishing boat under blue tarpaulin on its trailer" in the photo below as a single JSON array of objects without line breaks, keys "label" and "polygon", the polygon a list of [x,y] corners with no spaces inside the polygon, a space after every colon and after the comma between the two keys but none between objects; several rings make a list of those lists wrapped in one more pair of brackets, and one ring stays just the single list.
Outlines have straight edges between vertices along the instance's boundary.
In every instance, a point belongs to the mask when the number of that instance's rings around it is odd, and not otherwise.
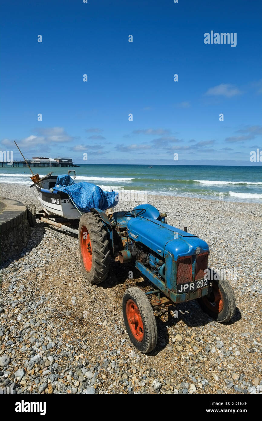
[{"label": "white fishing boat under blue tarpaulin on its trailer", "polygon": [[[14,142],[16,144],[16,141]],[[17,144],[16,146],[19,149]],[[24,158],[20,149],[19,152]],[[32,173],[30,178],[33,184],[30,188],[35,187],[37,189],[38,200],[42,205],[39,213],[37,213],[34,203],[26,205],[29,226],[34,226],[36,219],[39,218],[43,222],[78,234],[78,220],[82,215],[91,211],[98,214],[102,212],[102,217],[107,218],[107,216],[103,216],[105,215],[103,211],[111,213],[111,208],[114,208],[118,203],[119,194],[113,192],[112,187],[106,191],[85,181],[76,183],[70,176],[70,173],[74,173],[74,179],[76,178],[75,170],[69,170],[68,174],[59,176],[54,176],[50,172],[40,178],[38,173],[32,172],[26,160],[25,162]],[[56,218],[60,219],[62,223],[52,220]],[[64,218],[70,221],[64,222]]]}]

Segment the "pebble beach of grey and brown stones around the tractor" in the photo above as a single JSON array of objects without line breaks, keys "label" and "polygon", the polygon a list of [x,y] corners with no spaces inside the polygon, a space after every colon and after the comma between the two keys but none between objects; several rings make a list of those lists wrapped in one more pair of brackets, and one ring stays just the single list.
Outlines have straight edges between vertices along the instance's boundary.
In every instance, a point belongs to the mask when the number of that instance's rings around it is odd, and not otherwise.
[{"label": "pebble beach of grey and brown stones around the tractor", "polygon": [[[34,203],[34,188],[1,184],[2,197]],[[130,342],[122,296],[150,290],[132,265],[87,283],[76,234],[37,221],[26,248],[0,270],[0,387],[13,393],[262,393],[262,208],[259,203],[148,195],[168,224],[209,244],[209,267],[230,270],[237,312],[219,324],[197,301],[158,314],[148,355]],[[131,210],[138,202],[120,202]],[[130,271],[133,277],[129,278]],[[178,317],[175,311],[178,313]]]}]

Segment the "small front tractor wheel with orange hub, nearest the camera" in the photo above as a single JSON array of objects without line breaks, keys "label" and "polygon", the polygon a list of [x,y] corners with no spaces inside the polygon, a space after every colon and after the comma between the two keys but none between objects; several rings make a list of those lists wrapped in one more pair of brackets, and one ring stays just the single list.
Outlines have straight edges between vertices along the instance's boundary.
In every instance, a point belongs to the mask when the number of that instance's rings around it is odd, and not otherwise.
[{"label": "small front tractor wheel with orange hub, nearest the camera", "polygon": [[145,293],[139,288],[128,288],[122,301],[124,324],[135,347],[147,354],[157,343],[156,319]]}]

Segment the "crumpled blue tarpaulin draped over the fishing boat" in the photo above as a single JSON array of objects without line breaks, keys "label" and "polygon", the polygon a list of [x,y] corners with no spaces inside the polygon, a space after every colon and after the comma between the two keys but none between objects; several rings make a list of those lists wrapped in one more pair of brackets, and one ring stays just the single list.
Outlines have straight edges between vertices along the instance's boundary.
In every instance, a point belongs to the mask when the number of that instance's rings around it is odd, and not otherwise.
[{"label": "crumpled blue tarpaulin draped over the fishing boat", "polygon": [[67,193],[77,208],[84,213],[90,212],[91,208],[113,208],[118,203],[117,192],[104,192],[100,187],[86,181],[75,183],[66,174],[57,177],[54,190]]}]

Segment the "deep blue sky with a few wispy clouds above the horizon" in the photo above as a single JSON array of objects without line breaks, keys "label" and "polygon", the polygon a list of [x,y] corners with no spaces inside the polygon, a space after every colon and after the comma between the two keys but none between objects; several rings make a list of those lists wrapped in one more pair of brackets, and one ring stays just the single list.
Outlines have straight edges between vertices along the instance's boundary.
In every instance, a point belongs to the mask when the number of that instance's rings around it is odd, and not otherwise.
[{"label": "deep blue sky with a few wispy clouds above the horizon", "polygon": [[[0,148],[14,159],[13,140],[26,158],[75,163],[250,165],[250,151],[262,150],[260,1],[1,9]],[[212,30],[236,33],[236,47],[205,44]]]}]

